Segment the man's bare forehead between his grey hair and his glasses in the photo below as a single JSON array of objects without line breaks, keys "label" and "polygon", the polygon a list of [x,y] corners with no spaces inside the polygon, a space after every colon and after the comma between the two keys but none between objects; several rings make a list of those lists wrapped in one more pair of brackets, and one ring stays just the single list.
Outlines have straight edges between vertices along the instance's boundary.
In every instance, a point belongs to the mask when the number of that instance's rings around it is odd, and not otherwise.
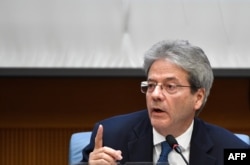
[{"label": "man's bare forehead between his grey hair and his glasses", "polygon": [[156,60],[148,72],[148,80],[186,82],[187,78],[188,74],[184,69],[165,59]]}]

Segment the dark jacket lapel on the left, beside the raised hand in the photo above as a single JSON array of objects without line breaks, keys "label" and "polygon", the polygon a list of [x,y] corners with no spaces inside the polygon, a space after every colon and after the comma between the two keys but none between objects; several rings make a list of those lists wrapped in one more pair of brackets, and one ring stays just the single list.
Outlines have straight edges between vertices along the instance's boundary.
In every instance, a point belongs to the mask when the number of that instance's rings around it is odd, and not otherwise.
[{"label": "dark jacket lapel on the left, beside the raised hand", "polygon": [[130,162],[153,161],[153,133],[148,116],[130,134],[128,151]]}]

